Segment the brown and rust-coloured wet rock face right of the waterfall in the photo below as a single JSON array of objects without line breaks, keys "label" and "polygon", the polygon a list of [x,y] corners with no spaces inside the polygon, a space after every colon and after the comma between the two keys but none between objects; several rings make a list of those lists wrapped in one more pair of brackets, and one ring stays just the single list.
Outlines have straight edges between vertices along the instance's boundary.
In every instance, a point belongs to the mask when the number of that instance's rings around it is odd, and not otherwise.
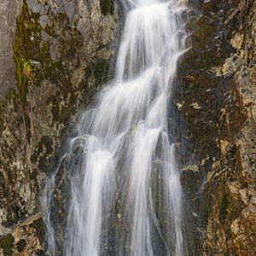
[{"label": "brown and rust-coloured wet rock face right of the waterfall", "polygon": [[193,48],[176,100],[190,154],[183,171],[194,218],[190,255],[253,255],[256,2],[202,2],[189,2]]}]

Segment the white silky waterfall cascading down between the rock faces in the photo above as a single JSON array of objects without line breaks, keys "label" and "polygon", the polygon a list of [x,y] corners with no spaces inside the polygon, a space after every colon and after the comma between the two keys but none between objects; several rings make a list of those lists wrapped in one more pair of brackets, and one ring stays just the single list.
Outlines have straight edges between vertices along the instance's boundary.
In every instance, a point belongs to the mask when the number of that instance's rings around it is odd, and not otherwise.
[{"label": "white silky waterfall cascading down between the rock faces", "polygon": [[[174,124],[167,120],[177,61],[186,50],[186,3],[127,3],[115,79],[82,114],[66,154],[79,152],[69,165],[65,255],[185,254]],[[49,185],[54,182],[55,176]]]}]

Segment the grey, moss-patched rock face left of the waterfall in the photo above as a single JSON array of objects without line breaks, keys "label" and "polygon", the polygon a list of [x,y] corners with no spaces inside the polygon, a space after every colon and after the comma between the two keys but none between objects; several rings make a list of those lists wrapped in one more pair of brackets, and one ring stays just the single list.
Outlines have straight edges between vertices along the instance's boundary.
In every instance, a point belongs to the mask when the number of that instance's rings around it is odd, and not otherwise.
[{"label": "grey, moss-patched rock face left of the waterfall", "polygon": [[111,79],[118,12],[113,1],[0,3],[0,255],[44,255],[42,180],[74,114]]}]

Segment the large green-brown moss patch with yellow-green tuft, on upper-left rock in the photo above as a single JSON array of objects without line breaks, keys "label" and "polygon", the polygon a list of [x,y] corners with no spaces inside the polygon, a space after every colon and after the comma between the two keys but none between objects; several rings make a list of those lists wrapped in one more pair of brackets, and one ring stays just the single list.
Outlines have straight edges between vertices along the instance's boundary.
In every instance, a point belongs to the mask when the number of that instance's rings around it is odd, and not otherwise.
[{"label": "large green-brown moss patch with yellow-green tuft, on upper-left rock", "polygon": [[[26,94],[30,85],[39,86],[44,79],[59,87],[61,91],[59,98],[66,98],[69,93],[73,95],[73,84],[71,84],[70,73],[63,63],[73,63],[74,55],[83,46],[83,36],[69,25],[66,14],[52,15],[51,26],[44,29],[49,36],[55,38],[60,46],[58,49],[58,60],[53,61],[50,55],[50,41],[42,41],[42,27],[38,20],[39,15],[32,13],[23,2],[23,8],[17,19],[15,32],[14,52],[16,64],[16,80],[19,91],[20,102],[23,108],[28,104]],[[49,13],[50,15],[50,13]],[[40,68],[32,68],[32,61],[38,61]],[[56,100],[59,105],[59,100]],[[26,113],[26,111],[24,111]],[[59,115],[56,119],[61,119]]]}]

